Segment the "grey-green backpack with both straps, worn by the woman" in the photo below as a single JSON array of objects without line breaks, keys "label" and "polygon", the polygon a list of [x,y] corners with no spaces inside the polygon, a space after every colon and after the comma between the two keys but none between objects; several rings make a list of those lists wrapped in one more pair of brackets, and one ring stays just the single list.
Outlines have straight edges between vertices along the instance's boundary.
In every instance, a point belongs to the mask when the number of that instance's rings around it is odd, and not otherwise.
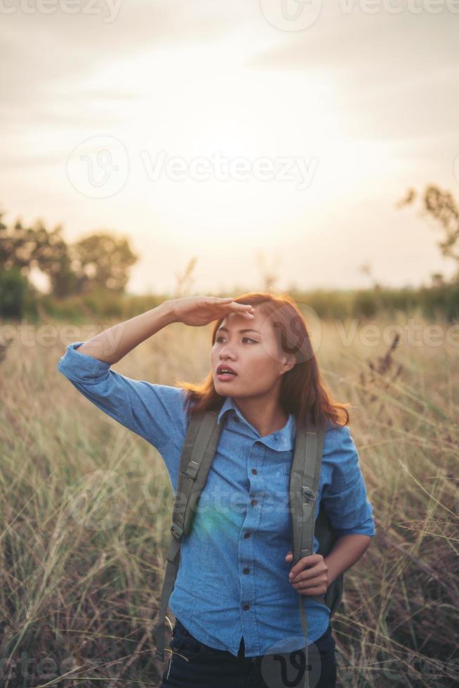
[{"label": "grey-green backpack with both straps, worn by the woman", "polygon": [[[199,411],[192,414],[182,447],[178,487],[172,514],[172,538],[166,557],[166,573],[158,612],[156,657],[159,661],[164,661],[166,612],[180,564],[182,538],[188,536],[191,530],[194,512],[201,491],[206,484],[208,471],[211,468],[223,427],[222,423],[218,425],[217,418],[218,411]],[[319,541],[317,551],[323,557],[328,555],[338,537],[331,527],[323,502],[321,502],[319,514],[314,524],[324,437],[324,425],[317,427],[308,424],[305,427],[304,423],[298,421],[297,418],[289,484],[289,504],[293,526],[293,561],[291,567],[302,557],[314,553],[314,534]],[[324,595],[308,595],[308,597],[312,597],[322,604],[325,602],[330,609],[330,616],[333,616],[341,602],[343,587],[344,574],[340,574],[328,586]],[[301,625],[306,639],[307,666],[305,597],[306,595],[298,593]]]}]

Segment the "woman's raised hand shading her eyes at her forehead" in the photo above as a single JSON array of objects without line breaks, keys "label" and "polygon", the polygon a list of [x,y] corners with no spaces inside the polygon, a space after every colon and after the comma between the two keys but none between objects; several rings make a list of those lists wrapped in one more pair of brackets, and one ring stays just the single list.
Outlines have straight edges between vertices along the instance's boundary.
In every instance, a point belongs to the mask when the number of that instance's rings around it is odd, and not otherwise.
[{"label": "woman's raised hand shading her eyes at her forehead", "polygon": [[175,322],[199,327],[213,320],[225,317],[229,313],[239,313],[247,319],[253,319],[255,312],[250,304],[237,303],[232,296],[186,296],[172,300]]}]

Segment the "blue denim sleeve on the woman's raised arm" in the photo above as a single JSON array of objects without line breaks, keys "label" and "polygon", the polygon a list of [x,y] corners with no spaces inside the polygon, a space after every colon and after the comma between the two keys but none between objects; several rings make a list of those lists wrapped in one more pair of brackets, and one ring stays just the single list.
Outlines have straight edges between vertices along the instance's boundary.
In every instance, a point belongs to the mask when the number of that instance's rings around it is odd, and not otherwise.
[{"label": "blue denim sleeve on the woman's raised arm", "polygon": [[83,343],[67,346],[58,371],[98,409],[156,447],[166,463],[176,463],[186,433],[185,390],[121,375],[109,363],[79,353]]}]

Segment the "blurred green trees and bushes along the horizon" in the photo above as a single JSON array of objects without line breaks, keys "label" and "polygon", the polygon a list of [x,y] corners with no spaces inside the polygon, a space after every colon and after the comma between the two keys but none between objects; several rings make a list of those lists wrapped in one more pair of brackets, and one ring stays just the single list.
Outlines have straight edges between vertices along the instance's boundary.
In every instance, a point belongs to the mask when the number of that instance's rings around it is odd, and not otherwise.
[{"label": "blurred green trees and bushes along the horizon", "polygon": [[[419,305],[428,317],[443,313],[451,322],[459,317],[459,209],[453,194],[437,185],[427,185],[423,192],[409,188],[397,201],[398,209],[418,204],[420,217],[432,223],[442,236],[437,245],[445,258],[453,260],[455,272],[446,279],[441,272],[432,272],[431,284],[417,289],[385,289],[375,283],[372,289],[326,293],[323,290],[302,293],[320,317],[361,315],[371,317],[376,312],[408,310]],[[94,232],[76,242],[66,242],[62,225],[48,230],[38,220],[25,226],[20,220],[7,226],[0,213],[0,317],[20,317],[22,312],[34,312],[31,303],[40,302],[51,312],[65,312],[69,297],[76,297],[67,306],[74,313],[75,303],[90,304],[100,315],[126,315],[126,307],[145,307],[142,297],[129,305],[125,293],[129,271],[138,260],[126,237],[112,232]],[[189,265],[194,267],[195,258]],[[364,266],[370,272],[369,266]],[[48,277],[51,293],[41,294],[35,289],[30,274],[38,268]],[[189,277],[186,275],[185,277]],[[265,274],[266,289],[275,276]],[[181,288],[180,288],[181,289]],[[296,291],[293,288],[293,291]],[[147,298],[147,297],[145,297]],[[149,297],[151,298],[151,297]],[[66,300],[67,299],[67,300]],[[149,306],[151,307],[151,306]]]}]

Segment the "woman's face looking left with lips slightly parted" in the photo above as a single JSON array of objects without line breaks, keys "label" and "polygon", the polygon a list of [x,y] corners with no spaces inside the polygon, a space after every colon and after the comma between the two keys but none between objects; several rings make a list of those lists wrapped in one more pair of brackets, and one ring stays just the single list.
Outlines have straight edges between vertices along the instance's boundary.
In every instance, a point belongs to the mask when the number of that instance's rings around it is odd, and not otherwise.
[{"label": "woman's face looking left with lips slightly parted", "polygon": [[[211,367],[215,391],[222,396],[265,394],[292,367],[284,366],[288,356],[279,348],[270,319],[256,306],[254,314],[255,317],[248,319],[230,313],[215,334]],[[220,365],[230,366],[237,375],[220,377]]]}]

